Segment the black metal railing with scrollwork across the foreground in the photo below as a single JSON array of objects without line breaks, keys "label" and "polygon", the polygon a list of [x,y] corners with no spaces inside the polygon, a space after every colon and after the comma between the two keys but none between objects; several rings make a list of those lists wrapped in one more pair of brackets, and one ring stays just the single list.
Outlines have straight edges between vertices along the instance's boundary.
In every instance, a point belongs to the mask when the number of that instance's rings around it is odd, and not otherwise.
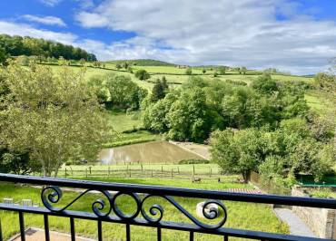
[{"label": "black metal railing with scrollwork across the foreground", "polygon": [[[11,174],[0,174],[0,181],[42,186],[41,200],[44,205],[43,207],[23,207],[5,203],[0,204],[0,209],[18,213],[21,240],[25,240],[25,213],[33,213],[44,216],[45,240],[50,240],[48,221],[49,216],[69,218],[72,240],[75,240],[74,222],[75,219],[78,218],[96,221],[98,240],[103,240],[103,222],[124,224],[126,227],[126,240],[131,240],[131,226],[155,227],[157,230],[157,240],[162,239],[163,228],[189,232],[190,240],[193,240],[195,233],[222,236],[223,240],[229,240],[229,237],[231,236],[257,240],[320,240],[319,238],[306,236],[291,236],[224,227],[227,217],[230,217],[230,213],[225,207],[225,201],[336,209],[335,199],[324,198],[294,198],[274,195],[253,195],[212,190],[167,188],[159,186],[105,183],[63,178],[37,178]],[[65,204],[64,207],[59,207],[59,201],[64,195],[64,192],[60,187],[76,188],[76,190],[77,188],[80,188],[83,191],[79,193],[76,192],[76,198]],[[91,203],[91,212],[70,210],[69,207],[71,207],[77,200],[92,191],[99,193],[103,198],[96,199],[93,203]],[[132,198],[136,204],[132,214],[124,214],[124,212],[116,204],[117,198],[122,195],[126,195],[129,198]],[[145,206],[146,200],[152,197],[165,199],[171,205],[173,205],[173,207],[177,208],[177,210],[183,216],[187,217],[190,222],[185,223],[163,220],[164,208],[161,205],[152,204],[149,208],[146,208]],[[176,201],[178,198],[206,199],[203,204],[203,217],[205,217],[205,219],[200,220],[200,218],[193,216],[191,212],[186,210],[182,205],[179,204],[178,201]],[[219,208],[212,209],[210,212],[207,212],[205,209],[211,205],[216,205]],[[216,218],[219,219],[219,221],[215,224],[213,222],[210,222],[209,224],[203,221],[213,221]],[[0,227],[0,241],[2,240],[3,238]]]}]

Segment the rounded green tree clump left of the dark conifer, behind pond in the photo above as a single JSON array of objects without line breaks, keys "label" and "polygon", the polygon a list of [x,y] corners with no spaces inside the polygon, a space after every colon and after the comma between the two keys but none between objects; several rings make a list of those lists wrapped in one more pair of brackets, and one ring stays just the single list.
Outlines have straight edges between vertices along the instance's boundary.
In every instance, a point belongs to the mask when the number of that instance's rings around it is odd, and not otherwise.
[{"label": "rounded green tree clump left of the dark conifer, behind pond", "polygon": [[[104,77],[103,77],[104,78]],[[126,75],[108,74],[105,76],[106,87],[110,92],[110,101],[122,109],[138,110],[147,91],[139,87]]]}]

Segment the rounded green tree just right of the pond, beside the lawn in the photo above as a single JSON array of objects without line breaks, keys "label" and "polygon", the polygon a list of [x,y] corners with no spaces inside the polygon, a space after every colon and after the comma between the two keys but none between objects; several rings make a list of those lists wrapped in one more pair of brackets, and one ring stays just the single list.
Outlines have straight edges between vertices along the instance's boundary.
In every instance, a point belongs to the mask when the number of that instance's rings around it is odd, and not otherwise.
[{"label": "rounded green tree just right of the pond, beside the lawn", "polygon": [[212,159],[229,173],[241,173],[247,183],[250,172],[261,163],[260,133],[258,130],[216,130],[210,145]]}]

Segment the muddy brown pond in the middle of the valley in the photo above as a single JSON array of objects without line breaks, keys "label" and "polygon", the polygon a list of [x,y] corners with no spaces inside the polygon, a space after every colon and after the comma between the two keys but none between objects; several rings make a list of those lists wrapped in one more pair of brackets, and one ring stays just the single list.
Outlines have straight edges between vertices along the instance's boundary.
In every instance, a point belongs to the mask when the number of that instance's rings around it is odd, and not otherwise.
[{"label": "muddy brown pond in the middle of the valley", "polygon": [[183,159],[203,159],[193,152],[167,141],[152,141],[129,146],[102,149],[98,155],[101,164],[121,163],[178,163]]}]

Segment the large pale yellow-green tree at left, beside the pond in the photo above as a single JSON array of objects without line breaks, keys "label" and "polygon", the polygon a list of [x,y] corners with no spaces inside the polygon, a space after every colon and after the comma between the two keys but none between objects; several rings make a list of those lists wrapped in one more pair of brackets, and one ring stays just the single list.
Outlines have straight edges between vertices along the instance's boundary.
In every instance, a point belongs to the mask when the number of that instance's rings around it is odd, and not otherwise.
[{"label": "large pale yellow-green tree at left, beside the pond", "polygon": [[10,149],[28,151],[47,177],[57,176],[65,161],[96,158],[109,129],[83,72],[15,64],[4,72],[10,93],[1,112],[1,138]]}]

